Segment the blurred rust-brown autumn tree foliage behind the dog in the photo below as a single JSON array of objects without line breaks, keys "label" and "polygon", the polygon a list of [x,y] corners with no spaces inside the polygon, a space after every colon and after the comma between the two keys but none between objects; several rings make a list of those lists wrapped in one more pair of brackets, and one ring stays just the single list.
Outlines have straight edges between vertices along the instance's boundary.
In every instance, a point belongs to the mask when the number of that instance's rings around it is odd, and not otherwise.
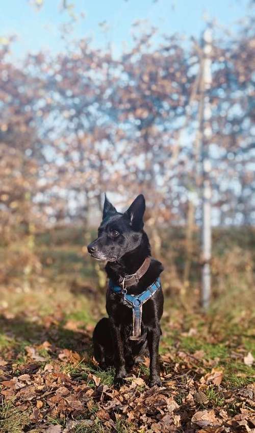
[{"label": "blurred rust-brown autumn tree foliage behind the dog", "polygon": [[[254,219],[249,26],[233,39],[215,38],[213,46],[208,146],[218,224]],[[4,236],[29,221],[43,226],[91,218],[106,189],[119,195],[120,205],[143,190],[162,221],[185,223],[199,186],[201,49],[199,41],[184,48],[177,35],[155,45],[155,32],[138,35],[117,60],[81,40],[70,52],[29,55],[18,67],[7,60],[11,43],[3,47]]]}]

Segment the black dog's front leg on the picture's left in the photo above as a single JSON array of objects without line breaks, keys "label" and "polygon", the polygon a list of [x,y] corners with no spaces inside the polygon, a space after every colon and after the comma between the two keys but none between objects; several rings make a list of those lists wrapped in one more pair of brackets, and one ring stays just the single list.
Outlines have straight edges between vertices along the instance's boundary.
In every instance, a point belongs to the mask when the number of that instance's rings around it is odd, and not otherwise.
[{"label": "black dog's front leg on the picture's left", "polygon": [[126,377],[123,342],[120,334],[120,326],[117,326],[112,319],[110,319],[110,323],[111,323],[112,339],[114,344],[114,365],[115,365],[114,383],[121,385],[124,383],[123,379]]}]

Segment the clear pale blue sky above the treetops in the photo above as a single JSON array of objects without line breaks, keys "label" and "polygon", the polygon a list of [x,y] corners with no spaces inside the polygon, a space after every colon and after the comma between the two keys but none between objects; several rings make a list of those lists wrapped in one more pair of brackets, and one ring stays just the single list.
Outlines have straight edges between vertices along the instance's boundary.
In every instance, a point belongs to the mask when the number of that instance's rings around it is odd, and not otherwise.
[{"label": "clear pale blue sky above the treetops", "polygon": [[[105,47],[110,41],[116,54],[123,42],[131,45],[131,26],[138,19],[147,19],[162,33],[198,36],[205,27],[205,14],[231,29],[247,13],[247,0],[69,0],[69,3],[74,3],[79,17],[72,37],[90,36],[98,47]],[[56,53],[64,50],[59,28],[68,20],[68,13],[60,11],[60,0],[44,0],[40,11],[28,0],[2,0],[0,37],[17,35],[12,48],[16,59],[28,51],[41,49]],[[98,23],[105,20],[108,30],[104,32]]]}]

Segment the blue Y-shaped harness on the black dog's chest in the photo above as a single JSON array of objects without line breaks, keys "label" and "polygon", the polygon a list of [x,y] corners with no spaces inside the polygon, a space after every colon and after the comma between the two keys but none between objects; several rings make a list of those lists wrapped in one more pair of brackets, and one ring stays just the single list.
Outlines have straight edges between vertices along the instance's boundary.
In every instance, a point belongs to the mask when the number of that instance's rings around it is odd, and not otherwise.
[{"label": "blue Y-shaped harness on the black dog's chest", "polygon": [[141,337],[142,306],[161,287],[160,278],[157,278],[157,280],[140,295],[128,294],[125,288],[123,289],[119,285],[115,285],[111,279],[109,281],[109,287],[112,292],[123,296],[123,301],[133,308],[133,333],[132,336],[130,336],[130,340],[139,340]]}]

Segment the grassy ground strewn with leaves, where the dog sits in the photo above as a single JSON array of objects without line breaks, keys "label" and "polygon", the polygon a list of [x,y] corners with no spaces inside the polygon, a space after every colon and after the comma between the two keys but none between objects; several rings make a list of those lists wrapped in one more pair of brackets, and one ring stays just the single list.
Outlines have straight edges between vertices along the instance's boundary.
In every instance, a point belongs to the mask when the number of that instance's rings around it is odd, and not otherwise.
[{"label": "grassy ground strewn with leaves, where the dog sits", "polygon": [[255,432],[252,318],[226,326],[227,320],[169,308],[163,386],[148,388],[144,358],[115,389],[114,369],[101,371],[92,356],[93,321],[75,308],[67,315],[58,303],[40,316],[39,304],[13,312],[4,304],[1,433]]}]

